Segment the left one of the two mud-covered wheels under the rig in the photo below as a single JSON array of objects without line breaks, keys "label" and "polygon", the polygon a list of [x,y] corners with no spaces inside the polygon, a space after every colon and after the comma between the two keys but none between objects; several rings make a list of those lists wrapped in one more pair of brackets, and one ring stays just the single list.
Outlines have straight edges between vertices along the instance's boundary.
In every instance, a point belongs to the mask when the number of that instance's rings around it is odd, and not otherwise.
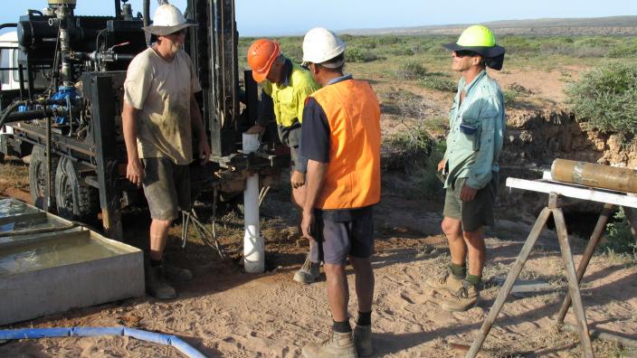
[{"label": "left one of the two mud-covered wheels under the rig", "polygon": [[[55,178],[55,170],[59,161],[59,156],[51,156],[52,193],[50,193],[51,200],[49,202],[52,207],[55,206],[55,185],[53,184],[53,180]],[[33,205],[42,209],[44,204],[44,193],[46,191],[46,152],[41,146],[33,146],[33,151],[31,152],[31,160],[29,160],[29,189]]]}]

